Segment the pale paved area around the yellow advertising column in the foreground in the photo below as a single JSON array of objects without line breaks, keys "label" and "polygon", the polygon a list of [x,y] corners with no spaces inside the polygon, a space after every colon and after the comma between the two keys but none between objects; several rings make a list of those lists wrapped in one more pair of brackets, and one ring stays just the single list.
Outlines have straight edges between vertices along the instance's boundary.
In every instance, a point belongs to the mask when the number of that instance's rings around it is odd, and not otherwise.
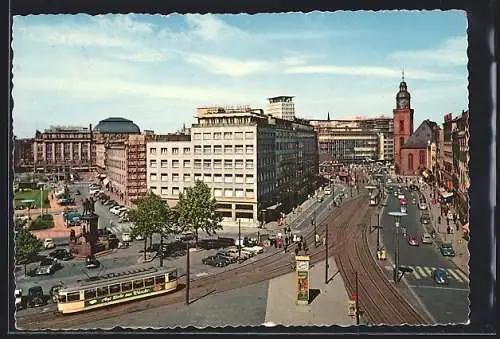
[{"label": "pale paved area around the yellow advertising column in the foreground", "polygon": [[266,323],[284,326],[351,326],[356,319],[347,315],[347,294],[344,281],[335,260],[329,258],[331,278],[325,284],[325,262],[320,261],[310,269],[309,305],[297,305],[296,273],[271,279],[267,290]]}]

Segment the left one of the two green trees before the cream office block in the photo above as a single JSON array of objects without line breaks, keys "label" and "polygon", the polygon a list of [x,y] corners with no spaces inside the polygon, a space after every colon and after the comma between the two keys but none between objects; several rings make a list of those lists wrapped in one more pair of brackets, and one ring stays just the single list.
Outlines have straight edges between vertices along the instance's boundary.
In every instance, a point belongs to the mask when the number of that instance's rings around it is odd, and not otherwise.
[{"label": "left one of the two green trees before the cream office block", "polygon": [[167,204],[152,192],[144,198],[137,199],[135,208],[129,211],[129,219],[134,225],[131,228],[131,237],[140,235],[144,238],[144,260],[146,260],[146,249],[148,238],[154,233],[162,234],[165,230],[165,222],[168,217]]}]

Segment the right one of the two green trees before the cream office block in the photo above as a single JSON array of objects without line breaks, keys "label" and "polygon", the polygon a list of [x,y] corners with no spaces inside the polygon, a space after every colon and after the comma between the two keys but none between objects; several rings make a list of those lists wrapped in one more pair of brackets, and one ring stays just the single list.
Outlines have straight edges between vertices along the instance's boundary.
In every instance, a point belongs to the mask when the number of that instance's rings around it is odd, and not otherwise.
[{"label": "right one of the two green trees before the cream office block", "polygon": [[179,226],[183,231],[190,230],[195,234],[198,247],[199,230],[208,235],[222,230],[222,216],[216,212],[217,201],[212,197],[210,188],[203,181],[196,180],[194,186],[186,190],[186,195],[179,194]]}]

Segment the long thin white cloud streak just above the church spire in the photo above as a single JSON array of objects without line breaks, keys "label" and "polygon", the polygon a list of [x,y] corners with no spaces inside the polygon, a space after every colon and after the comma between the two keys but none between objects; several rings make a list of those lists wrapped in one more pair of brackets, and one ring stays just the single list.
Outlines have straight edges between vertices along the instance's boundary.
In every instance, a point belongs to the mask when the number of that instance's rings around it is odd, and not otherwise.
[{"label": "long thin white cloud streak just above the church spire", "polygon": [[[389,67],[378,66],[330,66],[330,65],[311,65],[289,67],[285,70],[286,74],[338,74],[352,76],[371,76],[371,77],[387,77],[397,78],[401,75],[401,71]],[[451,74],[435,73],[426,70],[409,69],[405,70],[405,74],[409,78],[422,80],[451,80],[457,79]]]}]

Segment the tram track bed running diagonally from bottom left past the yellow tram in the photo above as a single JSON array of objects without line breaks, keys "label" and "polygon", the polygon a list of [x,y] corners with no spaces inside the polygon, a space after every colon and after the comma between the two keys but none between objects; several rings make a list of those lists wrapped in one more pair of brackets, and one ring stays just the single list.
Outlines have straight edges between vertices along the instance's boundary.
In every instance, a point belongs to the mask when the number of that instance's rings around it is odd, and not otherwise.
[{"label": "tram track bed running diagonally from bottom left past the yellow tram", "polygon": [[[318,233],[324,232],[327,224],[329,224],[331,228],[334,225],[346,223],[347,220],[359,212],[359,209],[363,206],[363,202],[364,199],[358,197],[345,202],[342,205],[342,209],[334,209],[333,213],[328,215],[327,220],[317,226]],[[309,244],[314,244],[314,231],[307,233],[305,238]],[[330,239],[333,239],[333,237],[330,236]],[[332,249],[338,246],[338,244],[330,243],[333,244],[330,247]],[[287,255],[283,255],[282,252],[276,252],[262,259],[243,263],[234,269],[191,280],[190,300],[196,300],[208,294],[220,293],[251,285],[291,272],[291,263],[294,259],[294,247],[295,245],[289,246]],[[324,248],[312,248],[310,255],[313,259],[311,262],[314,263],[322,260],[323,258],[320,256],[321,253],[324,253]],[[181,293],[181,291],[185,292],[184,288],[185,277],[181,277],[179,279],[178,291],[163,296],[73,315],[60,315],[57,312],[49,311],[18,316],[16,323],[18,328],[27,330],[75,328],[75,324],[91,324],[101,319],[117,317],[125,313],[134,313],[169,304],[181,303],[185,300],[185,294]]]}]

